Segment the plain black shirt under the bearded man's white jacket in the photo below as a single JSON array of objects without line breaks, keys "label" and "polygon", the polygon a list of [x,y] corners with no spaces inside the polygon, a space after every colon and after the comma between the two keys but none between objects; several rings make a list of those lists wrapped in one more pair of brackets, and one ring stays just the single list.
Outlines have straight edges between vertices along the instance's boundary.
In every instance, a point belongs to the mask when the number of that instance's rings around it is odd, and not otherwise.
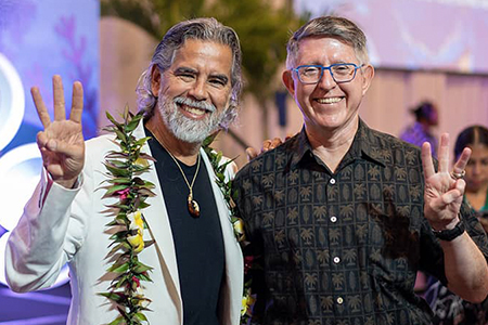
[{"label": "plain black shirt under the bearded man's white jacket", "polygon": [[[146,134],[151,135],[146,130]],[[184,325],[218,325],[219,292],[224,256],[223,238],[217,205],[203,158],[200,164],[193,198],[201,214],[194,218],[188,210],[190,190],[168,152],[154,139],[149,141],[171,224],[172,237],[183,300]],[[191,184],[196,164],[178,161]],[[162,320],[164,324],[164,320]]]}]

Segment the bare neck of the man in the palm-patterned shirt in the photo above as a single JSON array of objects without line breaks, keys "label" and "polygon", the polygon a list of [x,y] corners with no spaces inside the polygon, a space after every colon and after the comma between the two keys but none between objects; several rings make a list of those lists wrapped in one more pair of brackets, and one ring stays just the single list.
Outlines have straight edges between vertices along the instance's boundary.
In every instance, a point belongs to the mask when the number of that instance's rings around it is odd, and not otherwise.
[{"label": "bare neck of the man in the palm-patterned shirt", "polygon": [[334,172],[341,160],[349,151],[356,132],[358,131],[359,120],[352,121],[341,129],[321,130],[314,132],[312,128],[306,126],[306,132],[313,154],[316,154]]}]

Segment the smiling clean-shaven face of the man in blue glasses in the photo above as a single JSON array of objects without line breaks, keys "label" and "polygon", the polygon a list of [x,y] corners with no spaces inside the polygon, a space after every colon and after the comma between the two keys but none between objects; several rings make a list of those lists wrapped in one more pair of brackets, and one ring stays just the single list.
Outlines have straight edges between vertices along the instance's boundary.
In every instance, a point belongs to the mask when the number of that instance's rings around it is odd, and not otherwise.
[{"label": "smiling clean-shaven face of the man in blue glasses", "polygon": [[[309,37],[299,42],[295,67],[330,66],[335,63],[362,64],[355,49],[336,38]],[[286,70],[283,73],[283,82],[301,110],[309,135],[343,130],[352,133],[358,126],[359,105],[373,76],[373,67],[367,64],[357,70],[355,79],[349,82],[336,83],[329,70],[324,70],[317,84],[304,84],[296,73]]]}]

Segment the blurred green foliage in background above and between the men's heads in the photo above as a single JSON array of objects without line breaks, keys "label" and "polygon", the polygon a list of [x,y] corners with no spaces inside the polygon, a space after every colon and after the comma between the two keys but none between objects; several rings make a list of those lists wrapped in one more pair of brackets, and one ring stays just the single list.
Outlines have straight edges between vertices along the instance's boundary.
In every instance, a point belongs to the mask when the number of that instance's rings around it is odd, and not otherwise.
[{"label": "blurred green foliage in background above and between the men's heads", "polygon": [[128,20],[158,40],[180,21],[217,18],[237,32],[243,52],[245,91],[259,101],[269,99],[280,84],[274,79],[285,60],[291,30],[296,30],[309,18],[308,14],[296,15],[291,1],[274,8],[270,0],[102,0],[101,12]]}]

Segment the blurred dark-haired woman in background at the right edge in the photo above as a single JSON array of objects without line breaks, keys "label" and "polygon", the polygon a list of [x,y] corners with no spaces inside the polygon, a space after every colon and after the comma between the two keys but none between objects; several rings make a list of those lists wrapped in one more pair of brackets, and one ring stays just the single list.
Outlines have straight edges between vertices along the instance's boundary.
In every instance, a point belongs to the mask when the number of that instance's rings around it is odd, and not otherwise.
[{"label": "blurred dark-haired woman in background at the right edge", "polygon": [[[464,197],[488,232],[488,129],[472,126],[461,131],[455,141],[454,161],[466,146],[472,154],[465,168]],[[425,298],[434,311],[435,325],[488,324],[488,300],[481,303],[464,301],[434,278],[429,281]]]}]

